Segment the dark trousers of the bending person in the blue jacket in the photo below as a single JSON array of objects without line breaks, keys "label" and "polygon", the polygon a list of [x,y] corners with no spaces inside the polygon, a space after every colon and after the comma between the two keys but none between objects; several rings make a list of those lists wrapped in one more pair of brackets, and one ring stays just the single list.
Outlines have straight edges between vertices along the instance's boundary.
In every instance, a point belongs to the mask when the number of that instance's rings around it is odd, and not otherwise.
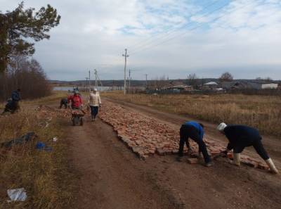
[{"label": "dark trousers of the bending person in the blue jacket", "polygon": [[180,129],[180,146],[178,148],[178,156],[183,156],[183,147],[184,144],[189,148],[188,138],[195,141],[199,146],[199,151],[203,153],[205,163],[209,163],[211,158],[208,154],[206,144],[202,139],[200,139],[200,135],[195,127],[192,125],[182,125]]}]

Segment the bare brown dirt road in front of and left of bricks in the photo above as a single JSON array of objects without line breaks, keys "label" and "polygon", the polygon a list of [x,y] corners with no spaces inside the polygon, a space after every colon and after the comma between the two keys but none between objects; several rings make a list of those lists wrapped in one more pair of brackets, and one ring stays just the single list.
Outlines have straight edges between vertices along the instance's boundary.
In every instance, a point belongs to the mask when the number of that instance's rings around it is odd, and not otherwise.
[{"label": "bare brown dirt road in front of and left of bricks", "polygon": [[209,168],[175,156],[140,160],[99,119],[63,125],[80,177],[74,208],[280,208],[280,175],[225,159]]}]

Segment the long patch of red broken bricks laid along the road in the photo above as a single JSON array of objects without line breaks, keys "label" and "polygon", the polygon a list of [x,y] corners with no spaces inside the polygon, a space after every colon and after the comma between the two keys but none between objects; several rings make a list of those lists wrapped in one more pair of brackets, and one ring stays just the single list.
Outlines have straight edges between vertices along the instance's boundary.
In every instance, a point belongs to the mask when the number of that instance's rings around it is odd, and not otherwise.
[{"label": "long patch of red broken bricks laid along the road", "polygon": [[[155,153],[161,156],[178,152],[179,129],[171,127],[171,125],[109,101],[103,104],[99,117],[112,125],[118,137],[140,158],[145,159]],[[204,140],[211,156],[226,149],[226,144],[220,144],[217,141],[206,139],[206,137]],[[197,144],[192,140],[190,140],[190,146],[192,151],[198,150]],[[187,151],[186,147],[184,151]],[[232,153],[228,153],[228,158],[233,158]],[[242,155],[241,161],[252,167],[268,168],[261,160],[249,156]]]}]

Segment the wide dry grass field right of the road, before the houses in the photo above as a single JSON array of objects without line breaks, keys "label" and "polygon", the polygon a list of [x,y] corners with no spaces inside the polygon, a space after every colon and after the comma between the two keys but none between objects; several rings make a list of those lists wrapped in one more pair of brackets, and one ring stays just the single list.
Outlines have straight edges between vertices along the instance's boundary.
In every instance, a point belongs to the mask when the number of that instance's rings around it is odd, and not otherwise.
[{"label": "wide dry grass field right of the road, before the houses", "polygon": [[263,134],[281,136],[281,97],[249,96],[242,94],[219,95],[158,95],[105,92],[102,96],[131,103],[151,106],[159,110],[209,122],[244,124],[258,128]]}]

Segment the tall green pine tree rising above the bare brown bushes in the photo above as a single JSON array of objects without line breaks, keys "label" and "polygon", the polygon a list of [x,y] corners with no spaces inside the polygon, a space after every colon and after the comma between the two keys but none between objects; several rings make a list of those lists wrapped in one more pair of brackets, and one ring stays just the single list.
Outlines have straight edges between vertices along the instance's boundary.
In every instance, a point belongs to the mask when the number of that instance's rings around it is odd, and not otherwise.
[{"label": "tall green pine tree rising above the bare brown bushes", "polygon": [[0,73],[5,72],[13,55],[32,56],[34,43],[27,38],[35,42],[49,39],[47,32],[60,23],[60,15],[49,4],[37,12],[23,7],[22,1],[14,11],[0,11]]}]

